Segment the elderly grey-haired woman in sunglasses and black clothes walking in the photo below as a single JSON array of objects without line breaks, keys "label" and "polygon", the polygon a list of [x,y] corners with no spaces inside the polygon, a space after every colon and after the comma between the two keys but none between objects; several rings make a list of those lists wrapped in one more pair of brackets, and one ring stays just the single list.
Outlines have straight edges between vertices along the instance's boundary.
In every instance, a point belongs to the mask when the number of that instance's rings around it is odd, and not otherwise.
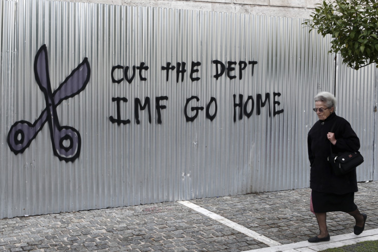
[{"label": "elderly grey-haired woman in sunglasses and black clothes walking", "polygon": [[[356,221],[355,235],[360,235],[365,228],[367,215],[360,213],[354,204],[354,192],[357,189],[355,169],[345,175],[336,176],[328,163],[327,157],[333,153],[357,151],[360,139],[350,123],[336,116],[336,98],[328,92],[320,92],[314,97],[319,120],[308,133],[308,153],[311,165],[310,188],[313,210],[319,225],[318,236],[309,242],[329,241],[327,230],[327,212],[343,211],[352,215]],[[333,129],[333,130],[332,130]]]}]

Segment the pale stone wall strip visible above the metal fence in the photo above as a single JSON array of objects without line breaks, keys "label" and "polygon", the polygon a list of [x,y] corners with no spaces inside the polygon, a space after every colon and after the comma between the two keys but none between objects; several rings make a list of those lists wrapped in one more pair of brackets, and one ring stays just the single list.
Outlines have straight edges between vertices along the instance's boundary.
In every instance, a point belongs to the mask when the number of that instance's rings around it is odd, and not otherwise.
[{"label": "pale stone wall strip visible above the metal fence", "polygon": [[60,0],[127,6],[205,10],[255,15],[308,18],[322,0]]}]

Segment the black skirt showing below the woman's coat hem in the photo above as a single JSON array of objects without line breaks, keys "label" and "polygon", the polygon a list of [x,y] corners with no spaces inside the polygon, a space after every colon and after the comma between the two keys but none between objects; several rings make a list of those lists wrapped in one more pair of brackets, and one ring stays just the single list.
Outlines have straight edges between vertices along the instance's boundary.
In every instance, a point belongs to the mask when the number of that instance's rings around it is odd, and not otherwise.
[{"label": "black skirt showing below the woman's coat hem", "polygon": [[311,196],[314,212],[353,212],[357,209],[354,192],[334,194],[312,190]]}]

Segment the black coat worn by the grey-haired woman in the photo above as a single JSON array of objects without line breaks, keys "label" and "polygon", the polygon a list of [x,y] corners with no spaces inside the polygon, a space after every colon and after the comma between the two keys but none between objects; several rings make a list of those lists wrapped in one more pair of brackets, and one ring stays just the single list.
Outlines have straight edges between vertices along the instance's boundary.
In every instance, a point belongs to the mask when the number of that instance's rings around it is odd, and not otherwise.
[{"label": "black coat worn by the grey-haired woman", "polygon": [[335,113],[327,117],[326,120],[318,120],[307,137],[309,160],[311,166],[310,188],[319,192],[344,194],[356,192],[357,179],[356,171],[335,176],[328,163],[327,157],[331,154],[330,141],[327,133],[331,132],[335,123],[333,133],[335,133],[336,145],[332,145],[332,152],[358,151],[360,149],[360,139],[353,131],[350,123]]}]

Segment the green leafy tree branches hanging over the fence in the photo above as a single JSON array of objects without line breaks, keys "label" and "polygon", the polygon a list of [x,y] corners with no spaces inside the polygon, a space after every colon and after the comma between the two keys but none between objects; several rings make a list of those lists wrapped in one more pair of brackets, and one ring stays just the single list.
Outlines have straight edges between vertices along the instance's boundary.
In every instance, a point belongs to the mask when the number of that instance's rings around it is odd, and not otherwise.
[{"label": "green leafy tree branches hanging over the fence", "polygon": [[332,36],[329,52],[340,52],[354,69],[378,59],[377,0],[325,0],[304,24],[325,37]]}]

